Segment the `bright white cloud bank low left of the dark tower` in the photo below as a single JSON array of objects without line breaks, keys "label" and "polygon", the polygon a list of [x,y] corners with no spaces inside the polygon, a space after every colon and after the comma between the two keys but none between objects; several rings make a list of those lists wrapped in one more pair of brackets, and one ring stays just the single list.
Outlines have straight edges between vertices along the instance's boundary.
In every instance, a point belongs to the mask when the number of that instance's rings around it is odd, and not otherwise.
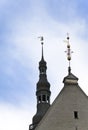
[{"label": "bright white cloud bank low left of the dark tower", "polygon": [[16,108],[10,104],[0,104],[0,130],[28,130],[32,114],[31,107]]}]

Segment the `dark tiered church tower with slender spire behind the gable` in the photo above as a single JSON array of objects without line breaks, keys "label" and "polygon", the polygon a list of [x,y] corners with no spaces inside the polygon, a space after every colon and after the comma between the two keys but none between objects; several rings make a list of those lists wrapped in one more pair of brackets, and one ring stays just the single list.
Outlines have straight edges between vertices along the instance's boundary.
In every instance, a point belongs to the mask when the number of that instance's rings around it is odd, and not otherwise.
[{"label": "dark tiered church tower with slender spire behind the gable", "polygon": [[39,81],[36,85],[36,97],[37,97],[37,112],[32,119],[32,124],[29,126],[29,130],[34,130],[42,117],[45,115],[46,111],[50,107],[50,83],[47,80],[47,66],[44,60],[43,54],[43,37],[40,37],[42,45],[42,57],[39,62]]}]

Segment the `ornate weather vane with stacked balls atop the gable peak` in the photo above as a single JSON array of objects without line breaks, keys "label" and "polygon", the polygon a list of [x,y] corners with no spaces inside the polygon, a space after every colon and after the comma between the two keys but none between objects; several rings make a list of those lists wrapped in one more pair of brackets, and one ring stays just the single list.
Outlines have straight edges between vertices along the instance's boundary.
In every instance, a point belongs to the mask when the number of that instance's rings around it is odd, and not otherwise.
[{"label": "ornate weather vane with stacked balls atop the gable peak", "polygon": [[70,66],[70,61],[71,61],[71,54],[73,53],[73,51],[71,51],[71,46],[69,43],[69,33],[67,33],[67,40],[65,40],[65,42],[67,43],[67,50],[65,51],[67,53],[67,60],[69,61],[69,67],[68,67],[68,72],[69,74],[71,73],[71,66]]}]

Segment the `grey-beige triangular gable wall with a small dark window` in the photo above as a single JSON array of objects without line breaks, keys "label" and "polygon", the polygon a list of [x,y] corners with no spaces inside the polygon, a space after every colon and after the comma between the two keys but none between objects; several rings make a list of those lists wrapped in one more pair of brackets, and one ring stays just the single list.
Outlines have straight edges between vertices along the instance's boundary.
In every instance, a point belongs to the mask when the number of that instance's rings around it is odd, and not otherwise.
[{"label": "grey-beige triangular gable wall with a small dark window", "polygon": [[[69,80],[68,80],[69,79]],[[88,129],[88,97],[73,74],[64,78],[64,87],[35,130]],[[71,81],[71,82],[70,82]],[[74,119],[74,112],[79,119]]]}]

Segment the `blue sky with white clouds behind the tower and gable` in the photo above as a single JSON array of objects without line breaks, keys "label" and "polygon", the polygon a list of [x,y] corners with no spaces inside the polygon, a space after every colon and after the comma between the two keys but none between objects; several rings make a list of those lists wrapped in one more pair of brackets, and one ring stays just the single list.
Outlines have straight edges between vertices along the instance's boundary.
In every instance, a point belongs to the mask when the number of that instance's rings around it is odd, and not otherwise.
[{"label": "blue sky with white clouds behind the tower and gable", "polygon": [[51,103],[68,74],[66,34],[72,53],[71,71],[88,95],[88,1],[0,0],[0,130],[28,130],[36,113],[41,43],[51,84]]}]

